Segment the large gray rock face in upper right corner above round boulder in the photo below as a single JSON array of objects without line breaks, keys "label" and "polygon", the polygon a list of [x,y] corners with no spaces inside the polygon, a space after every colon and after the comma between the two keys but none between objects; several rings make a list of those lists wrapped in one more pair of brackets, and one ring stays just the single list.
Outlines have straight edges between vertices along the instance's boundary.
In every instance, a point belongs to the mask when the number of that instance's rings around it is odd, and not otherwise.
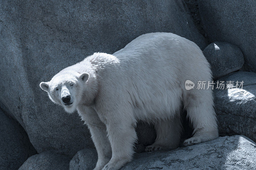
[{"label": "large gray rock face in upper right corner above round boulder", "polygon": [[244,69],[256,71],[256,1],[197,1],[201,25],[209,40],[237,45],[244,54]]}]

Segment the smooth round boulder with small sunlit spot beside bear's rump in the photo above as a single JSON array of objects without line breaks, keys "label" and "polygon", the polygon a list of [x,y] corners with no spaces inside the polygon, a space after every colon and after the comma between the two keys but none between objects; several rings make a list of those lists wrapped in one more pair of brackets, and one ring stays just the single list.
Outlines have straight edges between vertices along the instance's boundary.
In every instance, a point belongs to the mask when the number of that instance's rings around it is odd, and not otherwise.
[{"label": "smooth round boulder with small sunlit spot beside bear's rump", "polygon": [[237,71],[244,64],[241,49],[228,42],[214,42],[204,48],[204,56],[211,65],[214,78]]}]

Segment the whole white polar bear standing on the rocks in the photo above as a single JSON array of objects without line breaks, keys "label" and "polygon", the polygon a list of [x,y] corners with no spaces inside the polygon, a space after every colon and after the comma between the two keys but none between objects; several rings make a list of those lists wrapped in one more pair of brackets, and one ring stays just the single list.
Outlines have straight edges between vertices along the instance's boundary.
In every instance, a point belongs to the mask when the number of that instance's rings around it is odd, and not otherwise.
[{"label": "whole white polar bear standing on the rocks", "polygon": [[138,120],[156,128],[146,151],[178,147],[183,109],[194,127],[185,145],[218,137],[212,89],[186,90],[186,80],[212,83],[200,48],[173,33],[148,33],[112,55],[94,53],[40,87],[67,112],[78,111],[98,152],[95,169],[105,170],[132,160]]}]

